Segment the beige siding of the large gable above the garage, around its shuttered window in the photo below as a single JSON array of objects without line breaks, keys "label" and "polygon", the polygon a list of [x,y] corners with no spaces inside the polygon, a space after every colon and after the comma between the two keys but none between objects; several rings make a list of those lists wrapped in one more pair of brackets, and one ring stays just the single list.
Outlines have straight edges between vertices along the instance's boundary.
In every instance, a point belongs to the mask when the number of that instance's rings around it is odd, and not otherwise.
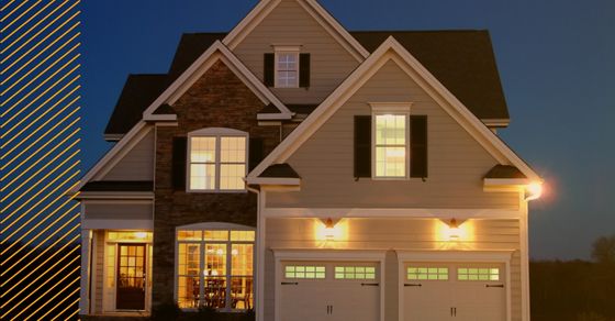
[{"label": "beige siding of the large gable above the garage, around its shuttered window", "polygon": [[[355,180],[354,117],[368,102],[412,102],[428,117],[428,177]],[[412,160],[411,160],[412,162]],[[389,60],[288,159],[301,190],[268,193],[279,208],[489,208],[517,209],[517,192],[484,192],[483,176],[497,162],[395,63]]]}]

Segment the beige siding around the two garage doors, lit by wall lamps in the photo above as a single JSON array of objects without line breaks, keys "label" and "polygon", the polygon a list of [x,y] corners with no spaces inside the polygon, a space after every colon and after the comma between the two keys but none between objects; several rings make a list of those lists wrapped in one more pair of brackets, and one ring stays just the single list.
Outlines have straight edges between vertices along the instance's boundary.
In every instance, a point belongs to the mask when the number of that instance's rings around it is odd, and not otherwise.
[{"label": "beige siding around the two garage doors, lit by wall lamps", "polygon": [[[334,242],[338,250],[387,250],[385,268],[385,320],[398,319],[398,257],[391,250],[515,250],[511,261],[512,320],[521,320],[521,259],[518,220],[469,220],[474,240],[451,246],[437,234],[437,219],[345,219],[347,239]],[[317,219],[267,219],[267,248],[327,248],[323,241],[315,241]],[[275,314],[275,262],[271,251],[266,256],[265,320],[273,320]],[[394,286],[394,288],[392,288]]]}]

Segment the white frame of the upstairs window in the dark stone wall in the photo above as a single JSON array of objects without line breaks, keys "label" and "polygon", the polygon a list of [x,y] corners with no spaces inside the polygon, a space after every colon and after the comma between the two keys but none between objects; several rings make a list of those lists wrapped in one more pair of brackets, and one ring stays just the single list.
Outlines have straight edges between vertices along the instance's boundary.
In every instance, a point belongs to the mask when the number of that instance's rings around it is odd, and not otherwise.
[{"label": "white frame of the upstairs window in the dark stone wall", "polygon": [[[192,189],[190,187],[190,170],[191,170],[191,152],[192,152],[192,137],[215,137],[215,181],[214,188],[212,189]],[[221,189],[220,188],[220,175],[221,175],[221,139],[222,137],[245,137],[246,139],[246,156],[245,156],[245,173],[244,178],[248,175],[248,158],[249,158],[249,134],[247,132],[224,129],[224,128],[209,128],[197,130],[188,133],[188,143],[186,148],[186,192],[247,192],[247,189]]]}]

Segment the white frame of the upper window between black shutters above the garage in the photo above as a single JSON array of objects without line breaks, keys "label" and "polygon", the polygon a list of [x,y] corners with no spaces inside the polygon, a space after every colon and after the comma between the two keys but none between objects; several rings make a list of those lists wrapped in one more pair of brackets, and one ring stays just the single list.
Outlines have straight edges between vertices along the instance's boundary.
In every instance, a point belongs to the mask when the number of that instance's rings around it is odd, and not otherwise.
[{"label": "white frame of the upper window between black shutters above the garage", "polygon": [[[371,106],[371,179],[373,180],[409,180],[410,179],[410,109],[412,102],[370,102]],[[405,176],[376,175],[376,118],[379,115],[405,117]]]}]

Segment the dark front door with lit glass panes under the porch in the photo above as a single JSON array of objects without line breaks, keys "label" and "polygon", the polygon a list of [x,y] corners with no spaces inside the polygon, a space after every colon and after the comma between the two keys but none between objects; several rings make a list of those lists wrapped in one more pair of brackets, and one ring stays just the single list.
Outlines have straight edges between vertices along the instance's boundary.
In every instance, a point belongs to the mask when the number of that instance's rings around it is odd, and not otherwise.
[{"label": "dark front door with lit glass panes under the porch", "polygon": [[118,245],[119,310],[145,310],[145,244]]}]

